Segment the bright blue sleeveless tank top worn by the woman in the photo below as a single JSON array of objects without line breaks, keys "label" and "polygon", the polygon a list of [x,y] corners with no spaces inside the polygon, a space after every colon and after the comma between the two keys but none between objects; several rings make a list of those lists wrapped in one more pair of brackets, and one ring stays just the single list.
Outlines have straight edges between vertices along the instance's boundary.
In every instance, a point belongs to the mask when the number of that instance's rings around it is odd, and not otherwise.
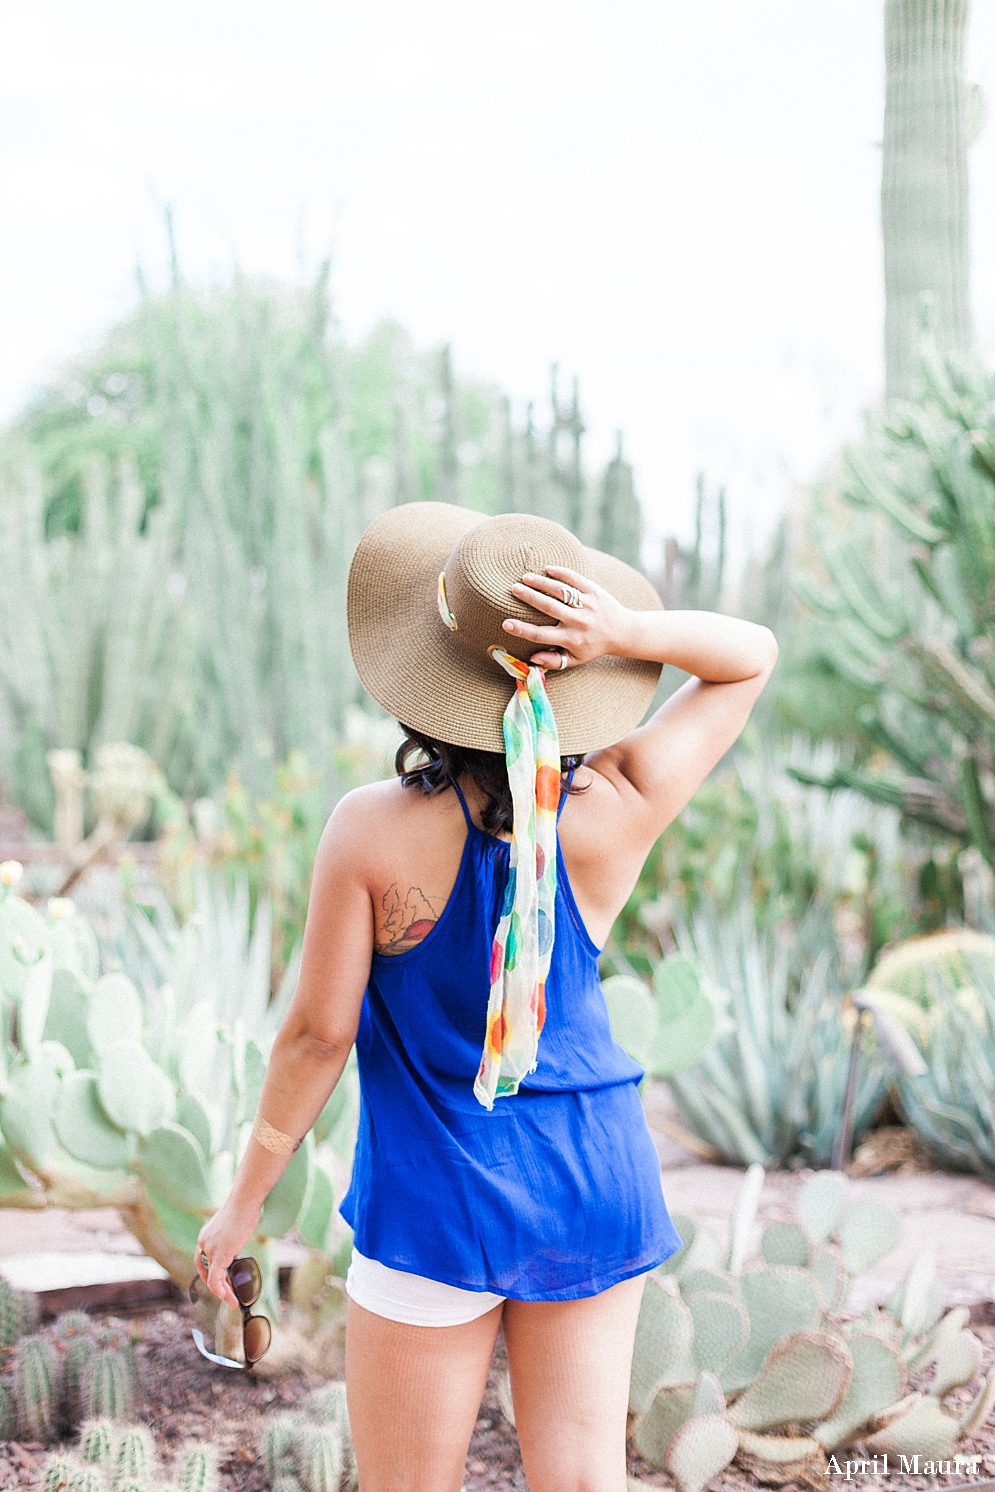
[{"label": "bright blue sleeveless tank top worn by the woman", "polygon": [[[512,1300],[577,1300],[680,1247],[646,1128],[643,1070],[613,1040],[556,847],[556,940],[539,1065],[488,1113],[473,1095],[509,844],[467,821],[431,932],[373,955],[357,1032],[360,1132],[342,1216],[361,1253]],[[564,800],[561,798],[561,810]]]}]

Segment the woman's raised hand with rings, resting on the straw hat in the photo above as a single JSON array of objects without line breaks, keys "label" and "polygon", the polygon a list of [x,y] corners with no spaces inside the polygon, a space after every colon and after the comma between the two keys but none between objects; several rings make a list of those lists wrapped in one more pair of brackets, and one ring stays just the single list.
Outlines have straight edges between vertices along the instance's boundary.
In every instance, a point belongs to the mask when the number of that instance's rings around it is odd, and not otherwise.
[{"label": "woman's raised hand with rings, resting on the straw hat", "polygon": [[530,659],[537,668],[553,673],[621,651],[633,613],[576,570],[549,565],[546,574],[527,571],[512,586],[512,594],[552,618],[553,625],[547,627],[519,622],[515,616],[503,624],[506,633],[537,645],[539,652]]}]

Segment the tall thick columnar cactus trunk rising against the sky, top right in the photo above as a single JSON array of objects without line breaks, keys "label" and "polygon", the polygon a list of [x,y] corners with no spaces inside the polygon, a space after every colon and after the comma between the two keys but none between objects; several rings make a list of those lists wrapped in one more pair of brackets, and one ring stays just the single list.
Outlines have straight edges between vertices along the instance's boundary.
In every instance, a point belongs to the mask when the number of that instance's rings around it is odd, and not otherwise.
[{"label": "tall thick columnar cactus trunk rising against the sky, top right", "polygon": [[923,301],[941,352],[968,352],[971,251],[967,152],[979,98],[964,49],[970,0],[886,0],[885,354],[889,397],[914,392]]}]

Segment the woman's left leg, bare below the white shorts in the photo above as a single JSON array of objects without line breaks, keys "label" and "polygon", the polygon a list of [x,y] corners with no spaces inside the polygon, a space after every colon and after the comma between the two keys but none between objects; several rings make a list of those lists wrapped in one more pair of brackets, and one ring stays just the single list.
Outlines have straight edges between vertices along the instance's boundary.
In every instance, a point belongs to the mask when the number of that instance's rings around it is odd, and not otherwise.
[{"label": "woman's left leg, bare below the white shorts", "polygon": [[346,1389],[362,1492],[459,1492],[501,1308],[464,1326],[407,1326],[349,1301]]}]

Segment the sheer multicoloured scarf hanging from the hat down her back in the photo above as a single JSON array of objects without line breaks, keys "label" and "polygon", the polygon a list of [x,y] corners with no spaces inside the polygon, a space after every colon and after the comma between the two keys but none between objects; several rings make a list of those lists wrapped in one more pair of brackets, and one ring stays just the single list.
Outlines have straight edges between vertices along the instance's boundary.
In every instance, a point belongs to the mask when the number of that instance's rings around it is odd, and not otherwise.
[{"label": "sheer multicoloured scarf hanging from the hat down her back", "polygon": [[546,674],[501,648],[491,656],[515,679],[504,712],[513,827],[504,904],[491,949],[491,995],[473,1092],[485,1109],[536,1071],[553,950],[559,737]]}]

